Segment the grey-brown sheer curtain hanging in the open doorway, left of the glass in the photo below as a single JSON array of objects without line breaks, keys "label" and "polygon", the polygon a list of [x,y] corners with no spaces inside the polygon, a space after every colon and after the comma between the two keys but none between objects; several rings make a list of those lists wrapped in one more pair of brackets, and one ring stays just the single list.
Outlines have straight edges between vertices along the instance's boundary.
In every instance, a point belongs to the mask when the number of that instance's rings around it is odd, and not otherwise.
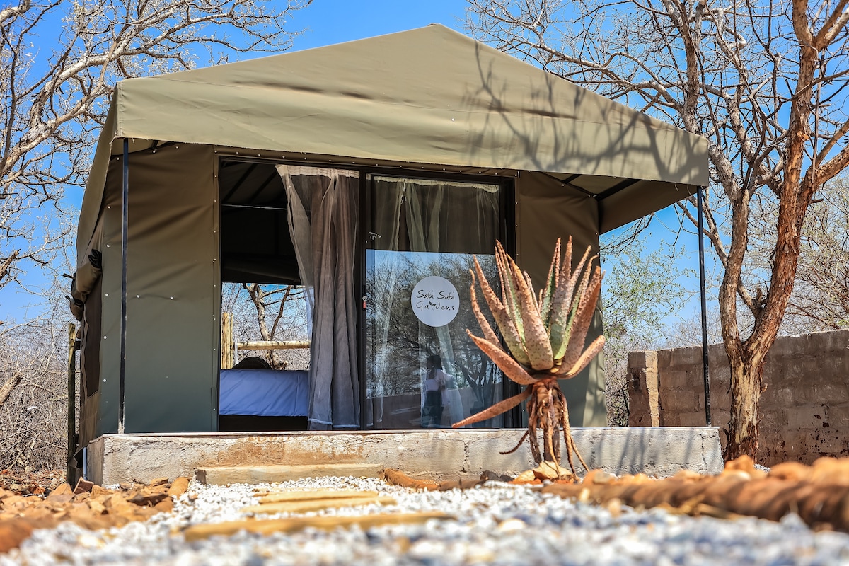
[{"label": "grey-brown sheer curtain hanging in the open doorway, left of the glass", "polygon": [[312,310],[312,430],[357,429],[354,258],[359,216],[356,171],[278,165],[289,201],[289,227]]}]

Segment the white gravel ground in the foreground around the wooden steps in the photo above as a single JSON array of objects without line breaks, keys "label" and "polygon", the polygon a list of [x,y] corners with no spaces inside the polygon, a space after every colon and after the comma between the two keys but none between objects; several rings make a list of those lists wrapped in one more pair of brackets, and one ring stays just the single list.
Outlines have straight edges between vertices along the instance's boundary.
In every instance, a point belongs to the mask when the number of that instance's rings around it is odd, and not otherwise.
[{"label": "white gravel ground in the foreground around the wooden steps", "polygon": [[[456,520],[374,529],[304,530],[293,535],[212,537],[186,542],[189,524],[244,518],[254,490],[378,490],[396,506],[323,514],[440,511]],[[193,501],[194,500],[194,501]],[[262,518],[268,518],[263,516]],[[849,535],[809,530],[795,515],[781,523],[722,521],[661,510],[595,507],[490,482],[472,490],[415,492],[377,479],[317,478],[275,485],[193,483],[174,513],[121,529],[74,524],[39,530],[20,549],[0,555],[18,564],[822,564],[849,565]]]}]

